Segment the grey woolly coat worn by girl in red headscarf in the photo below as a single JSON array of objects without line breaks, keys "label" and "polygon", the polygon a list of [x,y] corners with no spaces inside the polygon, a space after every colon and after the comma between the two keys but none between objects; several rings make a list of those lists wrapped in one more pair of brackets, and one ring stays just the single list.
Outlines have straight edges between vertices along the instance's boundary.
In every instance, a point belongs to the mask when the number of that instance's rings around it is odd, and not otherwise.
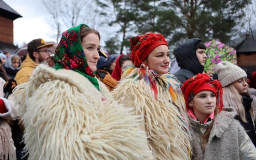
[{"label": "grey woolly coat worn by girl in red headscarf", "polygon": [[256,160],[256,148],[244,128],[234,119],[233,108],[225,108],[215,117],[205,152],[200,138],[207,125],[190,118],[192,134],[192,160]]}]

